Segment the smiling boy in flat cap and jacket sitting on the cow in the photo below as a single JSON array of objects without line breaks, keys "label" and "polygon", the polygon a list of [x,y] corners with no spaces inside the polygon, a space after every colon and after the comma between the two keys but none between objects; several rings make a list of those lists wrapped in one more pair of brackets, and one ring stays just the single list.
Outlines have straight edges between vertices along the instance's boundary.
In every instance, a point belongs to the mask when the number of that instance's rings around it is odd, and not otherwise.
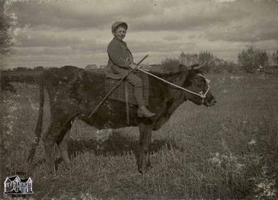
[{"label": "smiling boy in flat cap and jacket sitting on the cow", "polygon": [[[155,114],[145,107],[142,95],[142,79],[134,72],[138,66],[133,62],[131,51],[123,41],[127,28],[126,22],[114,22],[112,24],[114,38],[107,47],[108,63],[105,68],[105,75],[112,79],[126,77],[126,81],[134,87],[134,97],[138,103],[138,116],[152,117]],[[129,70],[133,71],[129,73]]]}]

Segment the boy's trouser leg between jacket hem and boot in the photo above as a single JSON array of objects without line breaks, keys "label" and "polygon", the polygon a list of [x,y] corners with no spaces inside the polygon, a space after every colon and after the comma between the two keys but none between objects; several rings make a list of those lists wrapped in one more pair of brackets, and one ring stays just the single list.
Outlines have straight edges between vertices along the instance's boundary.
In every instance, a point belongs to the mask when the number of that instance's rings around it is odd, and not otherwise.
[{"label": "boy's trouser leg between jacket hem and boot", "polygon": [[142,79],[138,77],[135,73],[131,72],[126,80],[134,86],[134,97],[138,103],[138,106],[145,106],[143,99],[143,84]]}]

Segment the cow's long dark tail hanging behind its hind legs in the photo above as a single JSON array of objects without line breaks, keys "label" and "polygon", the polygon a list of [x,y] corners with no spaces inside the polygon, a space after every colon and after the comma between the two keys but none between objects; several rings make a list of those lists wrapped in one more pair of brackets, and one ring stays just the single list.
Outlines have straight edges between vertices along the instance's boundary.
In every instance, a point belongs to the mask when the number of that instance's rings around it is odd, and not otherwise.
[{"label": "cow's long dark tail hanging behind its hind legs", "polygon": [[33,162],[33,158],[35,156],[35,148],[38,146],[40,142],[40,137],[42,135],[42,117],[43,117],[43,107],[44,107],[44,82],[43,79],[40,79],[40,108],[39,108],[39,116],[37,125],[35,127],[34,133],[35,133],[35,139],[33,141],[33,144],[31,145],[31,150],[28,154],[28,162]]}]

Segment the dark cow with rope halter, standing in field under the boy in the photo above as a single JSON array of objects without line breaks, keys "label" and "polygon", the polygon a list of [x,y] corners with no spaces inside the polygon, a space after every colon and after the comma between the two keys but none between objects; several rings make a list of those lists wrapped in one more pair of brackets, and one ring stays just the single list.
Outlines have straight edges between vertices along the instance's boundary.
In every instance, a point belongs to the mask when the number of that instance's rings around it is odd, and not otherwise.
[{"label": "dark cow with rope halter, standing in field under the boy", "polygon": [[[152,130],[158,130],[168,121],[174,111],[184,101],[190,100],[196,105],[211,107],[216,100],[209,90],[208,81],[202,75],[202,66],[190,68],[180,65],[177,72],[163,74],[153,72],[168,82],[177,84],[188,91],[183,91],[162,82],[155,77],[149,77],[149,110],[156,116],[152,118],[138,117],[137,107],[129,105],[129,124],[126,122],[124,102],[107,99],[97,112],[90,114],[106,95],[105,75],[74,66],[51,68],[44,70],[40,76],[40,109],[37,125],[35,127],[35,140],[28,155],[32,162],[35,155],[35,146],[40,141],[42,132],[42,115],[44,107],[44,87],[49,94],[50,123],[44,134],[44,152],[49,174],[55,174],[54,145],[58,145],[64,162],[70,167],[70,158],[67,154],[67,142],[63,138],[70,131],[75,118],[102,130],[106,128],[123,128],[138,126],[139,152],[137,157],[138,171],[145,173],[151,168],[150,146]],[[190,93],[193,92],[193,93]],[[196,95],[201,93],[206,95]]]}]

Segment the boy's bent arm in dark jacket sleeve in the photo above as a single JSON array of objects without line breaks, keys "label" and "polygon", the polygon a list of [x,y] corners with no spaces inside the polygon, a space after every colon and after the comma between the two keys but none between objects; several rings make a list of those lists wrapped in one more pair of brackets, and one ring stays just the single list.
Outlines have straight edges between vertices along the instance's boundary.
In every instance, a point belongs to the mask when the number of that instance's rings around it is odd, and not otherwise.
[{"label": "boy's bent arm in dark jacket sleeve", "polygon": [[112,60],[112,62],[119,66],[120,68],[129,69],[130,61],[127,61],[123,58],[122,47],[117,43],[111,43],[108,45],[108,56]]}]

